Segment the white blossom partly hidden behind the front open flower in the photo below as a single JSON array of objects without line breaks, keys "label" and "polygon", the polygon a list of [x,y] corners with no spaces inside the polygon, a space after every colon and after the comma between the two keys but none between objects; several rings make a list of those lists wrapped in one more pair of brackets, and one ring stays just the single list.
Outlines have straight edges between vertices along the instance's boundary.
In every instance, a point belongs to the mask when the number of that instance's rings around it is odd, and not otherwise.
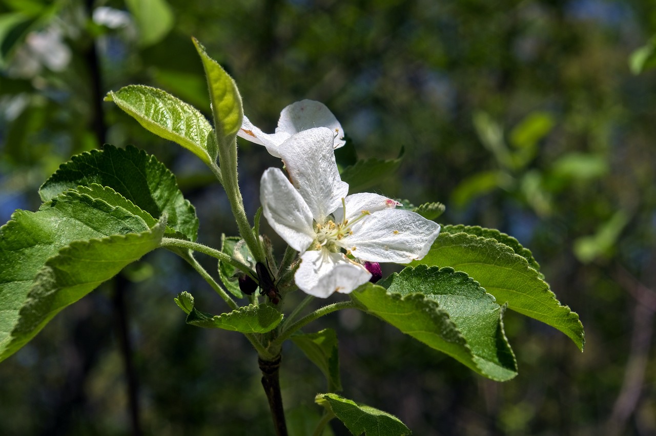
[{"label": "white blossom partly hidden behind the front open flower", "polygon": [[344,130],[342,130],[342,125],[337,121],[335,115],[325,104],[314,100],[301,100],[283,109],[275,133],[262,132],[244,115],[237,136],[260,146],[265,146],[271,155],[280,157],[278,148],[283,142],[293,134],[314,129],[315,127],[327,127],[333,132],[333,149],[346,144]]}]

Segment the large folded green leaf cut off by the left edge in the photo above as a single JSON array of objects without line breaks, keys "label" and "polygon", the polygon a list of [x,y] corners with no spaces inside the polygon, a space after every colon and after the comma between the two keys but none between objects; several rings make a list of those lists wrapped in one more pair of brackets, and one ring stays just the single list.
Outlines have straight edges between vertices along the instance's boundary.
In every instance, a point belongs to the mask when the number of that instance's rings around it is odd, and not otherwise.
[{"label": "large folded green leaf cut off by the left edge", "polygon": [[[72,194],[70,192],[65,195]],[[80,199],[85,201],[84,197]],[[55,201],[45,207],[56,208],[59,203],[71,202],[64,199],[57,201],[57,204],[53,203]],[[100,201],[93,203],[98,205]],[[105,208],[106,213],[102,213],[100,209],[103,207],[99,206],[96,214],[85,213],[83,207],[73,207],[75,213],[73,219],[68,220],[68,226],[66,219],[47,213],[39,215],[41,211],[31,215],[16,212],[14,221],[3,226],[0,260],[4,265],[12,265],[14,268],[3,270],[1,277],[0,311],[3,312],[3,318],[0,321],[0,361],[24,346],[64,307],[73,304],[128,264],[159,247],[166,227],[165,216],[152,229],[146,227],[140,233],[114,234],[102,239],[87,237],[87,241],[73,241],[47,260],[45,266],[34,275],[34,268],[43,262],[45,256],[50,256],[52,248],[57,247],[52,245],[52,239],[58,239],[59,244],[62,240],[70,239],[73,236],[70,228],[75,227],[72,224],[78,218],[82,218],[77,222],[78,235],[85,231],[91,233],[91,228],[87,228],[89,223],[84,220],[91,220],[96,228],[103,228],[110,221],[116,221],[114,226],[120,226],[121,208]],[[36,227],[41,225],[43,227]],[[128,233],[130,230],[129,227],[121,230],[105,228],[104,231],[113,233]],[[30,230],[33,230],[32,234]],[[5,239],[5,235],[9,238]],[[26,265],[21,262],[28,259]]]}]

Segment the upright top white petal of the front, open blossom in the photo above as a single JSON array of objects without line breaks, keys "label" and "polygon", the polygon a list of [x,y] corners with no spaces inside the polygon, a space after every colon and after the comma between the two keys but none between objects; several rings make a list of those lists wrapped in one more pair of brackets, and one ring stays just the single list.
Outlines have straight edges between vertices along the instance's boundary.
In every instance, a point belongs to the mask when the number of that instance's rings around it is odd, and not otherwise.
[{"label": "upright top white petal of the front, open blossom", "polygon": [[314,219],[322,224],[348,193],[332,144],[331,131],[318,127],[298,132],[278,148],[292,184],[308,203]]}]

